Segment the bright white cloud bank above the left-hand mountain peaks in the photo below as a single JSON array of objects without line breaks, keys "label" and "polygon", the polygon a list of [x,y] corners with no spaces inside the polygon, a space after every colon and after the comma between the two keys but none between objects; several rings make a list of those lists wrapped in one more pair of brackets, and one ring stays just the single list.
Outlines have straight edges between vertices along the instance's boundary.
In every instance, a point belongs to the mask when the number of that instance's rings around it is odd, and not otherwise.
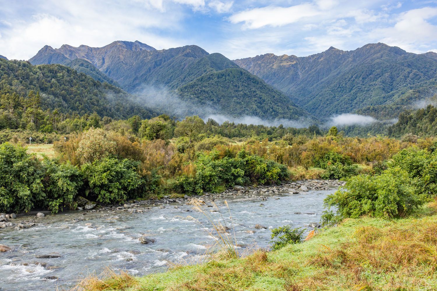
[{"label": "bright white cloud bank above the left-hand mountain peaks", "polygon": [[[147,3],[144,3],[145,5]],[[115,40],[139,40],[156,48],[184,45],[184,41],[153,34],[150,29],[177,31],[182,14],[170,15],[139,7],[135,3],[103,5],[97,1],[76,0],[45,2],[28,19],[8,19],[11,27],[0,28],[0,51],[10,59],[28,59],[44,45],[59,48],[63,44],[100,47]],[[159,7],[158,7],[159,8]]]}]

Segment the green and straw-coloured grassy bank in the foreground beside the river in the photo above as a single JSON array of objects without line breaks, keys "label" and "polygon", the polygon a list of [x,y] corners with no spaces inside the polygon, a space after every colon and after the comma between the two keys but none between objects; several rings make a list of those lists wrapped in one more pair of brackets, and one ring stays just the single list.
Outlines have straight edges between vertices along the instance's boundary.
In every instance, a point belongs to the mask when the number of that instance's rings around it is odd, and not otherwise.
[{"label": "green and straw-coloured grassy bank in the foreground beside the river", "polygon": [[347,219],[312,239],[245,258],[216,256],[146,277],[90,277],[77,290],[435,290],[437,203],[413,217]]}]

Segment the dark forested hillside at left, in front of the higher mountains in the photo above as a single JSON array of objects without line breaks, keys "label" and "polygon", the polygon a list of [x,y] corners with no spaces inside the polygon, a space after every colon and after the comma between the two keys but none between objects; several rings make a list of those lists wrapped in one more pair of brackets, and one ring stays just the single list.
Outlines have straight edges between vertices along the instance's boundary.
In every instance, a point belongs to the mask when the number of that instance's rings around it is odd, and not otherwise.
[{"label": "dark forested hillside at left, in front of the higher mountains", "polygon": [[[99,82],[63,65],[31,65],[29,62],[0,59],[1,108],[20,111],[33,90],[40,93],[38,107],[61,113],[92,114],[126,118],[134,114],[156,115],[131,101],[131,96],[107,82]],[[15,96],[15,97],[14,97]],[[25,107],[25,106],[24,106]]]}]

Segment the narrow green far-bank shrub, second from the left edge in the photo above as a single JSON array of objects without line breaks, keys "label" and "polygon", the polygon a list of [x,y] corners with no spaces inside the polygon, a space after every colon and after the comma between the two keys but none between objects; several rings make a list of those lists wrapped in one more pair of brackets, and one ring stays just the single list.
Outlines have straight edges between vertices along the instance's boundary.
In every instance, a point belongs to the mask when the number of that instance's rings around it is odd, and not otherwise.
[{"label": "narrow green far-bank shrub, second from the left edge", "polygon": [[45,158],[42,163],[45,170],[43,185],[47,195],[43,206],[52,210],[52,213],[64,207],[75,209],[77,204],[74,199],[83,185],[79,169],[70,162],[58,164],[49,158]]}]

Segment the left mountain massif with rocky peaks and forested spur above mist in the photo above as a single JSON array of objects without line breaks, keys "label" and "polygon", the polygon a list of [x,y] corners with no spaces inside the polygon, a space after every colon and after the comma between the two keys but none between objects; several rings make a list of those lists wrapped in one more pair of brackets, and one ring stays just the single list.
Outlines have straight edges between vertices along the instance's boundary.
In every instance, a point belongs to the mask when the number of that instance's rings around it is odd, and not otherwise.
[{"label": "left mountain massif with rocky peaks and forested spur above mist", "polygon": [[[225,56],[209,54],[197,45],[163,50],[139,41],[114,41],[101,48],[62,45],[54,49],[46,45],[29,61],[33,65],[70,66],[140,97],[165,87],[191,109],[197,108],[199,115],[208,111],[269,120],[309,116],[280,90]],[[165,104],[165,96],[162,98]]]}]

